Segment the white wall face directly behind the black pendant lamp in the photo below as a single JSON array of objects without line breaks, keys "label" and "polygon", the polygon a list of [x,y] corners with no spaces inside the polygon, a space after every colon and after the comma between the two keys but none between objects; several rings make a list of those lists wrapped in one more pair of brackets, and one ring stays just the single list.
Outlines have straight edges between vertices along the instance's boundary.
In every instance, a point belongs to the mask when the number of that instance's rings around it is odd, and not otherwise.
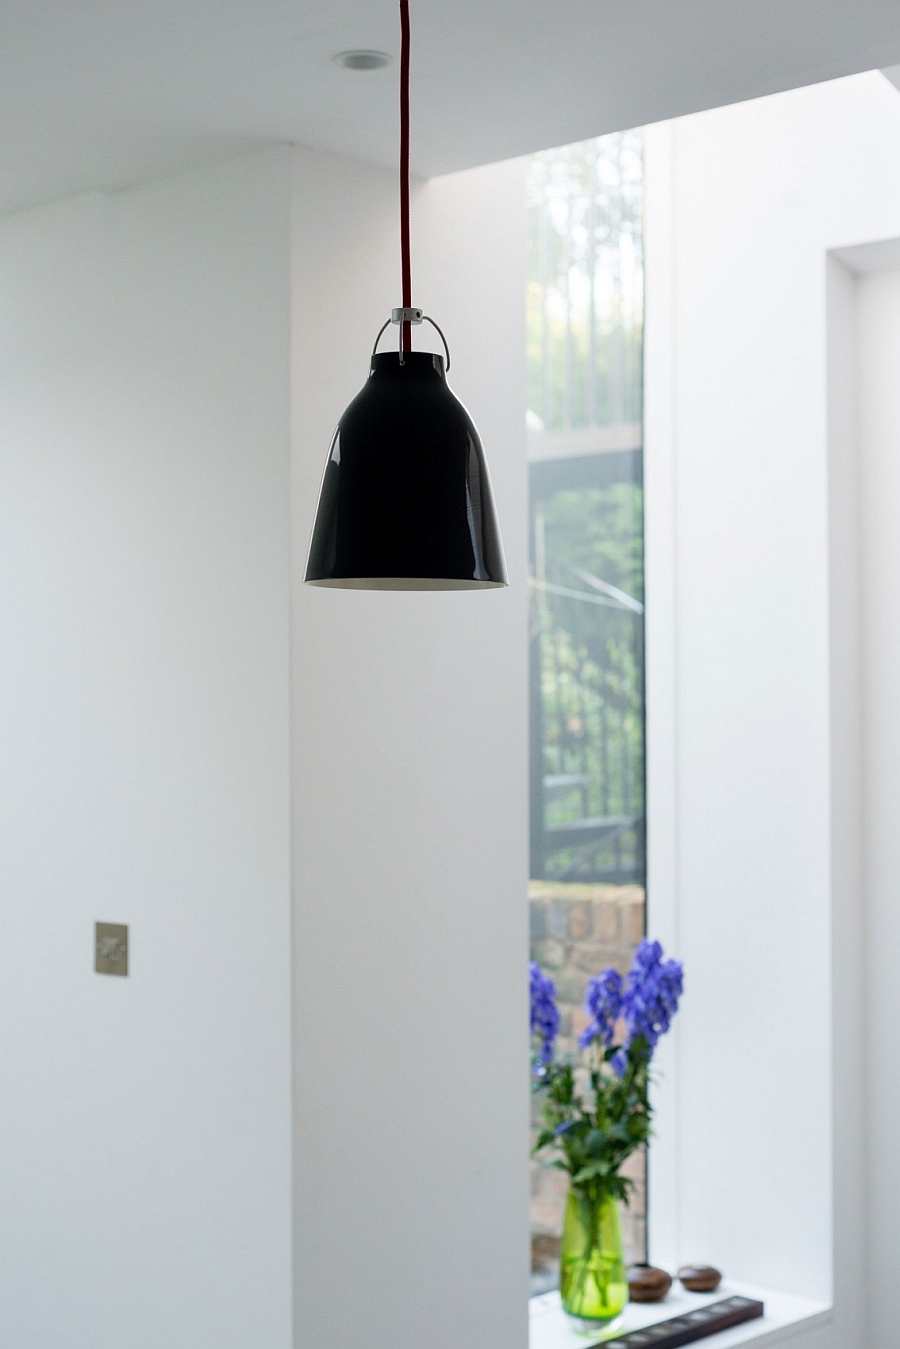
[{"label": "white wall face directly behind the black pendant lamp", "polygon": [[399,275],[395,174],[297,150],[298,1349],[526,1340],[522,169],[414,197],[413,299],[482,432],[511,584],[300,583],[333,425]]}]

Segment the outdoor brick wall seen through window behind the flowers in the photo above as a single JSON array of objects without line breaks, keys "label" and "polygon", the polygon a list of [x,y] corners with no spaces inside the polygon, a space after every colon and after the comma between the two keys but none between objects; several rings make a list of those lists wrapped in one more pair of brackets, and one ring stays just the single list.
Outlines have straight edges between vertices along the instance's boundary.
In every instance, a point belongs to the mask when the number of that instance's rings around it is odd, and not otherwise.
[{"label": "outdoor brick wall seen through window behind the flowers", "polygon": [[[556,985],[563,1054],[578,1052],[578,1036],[587,1024],[584,986],[610,965],[622,974],[644,936],[644,889],[640,885],[569,885],[529,882],[532,959]],[[534,1098],[533,1124],[540,1102]],[[629,1263],[646,1259],[646,1184],[644,1152],[631,1156],[626,1174],[637,1186],[622,1213]],[[556,1287],[559,1237],[568,1176],[532,1160],[532,1272],[533,1291]]]}]

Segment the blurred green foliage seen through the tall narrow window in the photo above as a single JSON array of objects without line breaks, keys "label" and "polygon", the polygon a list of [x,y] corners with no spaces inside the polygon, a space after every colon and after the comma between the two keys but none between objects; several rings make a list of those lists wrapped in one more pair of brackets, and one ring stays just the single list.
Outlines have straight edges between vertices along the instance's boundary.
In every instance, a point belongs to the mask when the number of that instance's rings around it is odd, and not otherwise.
[{"label": "blurred green foliage seen through the tall narrow window", "polygon": [[[532,161],[528,401],[536,429],[641,421],[641,210],[640,131]],[[545,799],[546,826],[642,815],[642,614],[579,576],[642,604],[642,487],[614,482],[557,491],[540,503],[534,523],[544,772],[555,780]],[[569,786],[563,778],[578,781]],[[615,844],[617,863],[640,869],[641,849],[640,831],[630,831]],[[588,874],[610,861],[611,854],[561,847],[546,858],[546,874],[575,880],[584,862]]]}]

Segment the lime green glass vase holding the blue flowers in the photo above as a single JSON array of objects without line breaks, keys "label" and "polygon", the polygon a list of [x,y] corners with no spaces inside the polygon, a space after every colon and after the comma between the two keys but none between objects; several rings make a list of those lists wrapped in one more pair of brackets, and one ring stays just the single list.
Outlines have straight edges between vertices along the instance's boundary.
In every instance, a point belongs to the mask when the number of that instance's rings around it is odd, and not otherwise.
[{"label": "lime green glass vase holding the blue flowers", "polygon": [[569,1190],[560,1246],[564,1310],[606,1325],[622,1313],[627,1296],[618,1203],[609,1194],[592,1201]]}]

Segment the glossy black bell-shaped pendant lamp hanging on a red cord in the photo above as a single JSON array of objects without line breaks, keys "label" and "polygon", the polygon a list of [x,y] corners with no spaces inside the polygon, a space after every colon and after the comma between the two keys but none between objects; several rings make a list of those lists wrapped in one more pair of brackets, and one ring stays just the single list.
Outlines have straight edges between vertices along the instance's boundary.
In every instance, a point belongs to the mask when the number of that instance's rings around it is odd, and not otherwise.
[{"label": "glossy black bell-shaped pendant lamp hanging on a red cord", "polygon": [[[447,383],[449,348],[412,304],[409,251],[409,0],[401,15],[401,259],[403,305],[375,339],[368,379],[335,432],[306,564],[310,585],[487,590],[506,565],[482,442]],[[447,353],[414,352],[429,322]],[[390,324],[399,349],[378,352]]]}]

